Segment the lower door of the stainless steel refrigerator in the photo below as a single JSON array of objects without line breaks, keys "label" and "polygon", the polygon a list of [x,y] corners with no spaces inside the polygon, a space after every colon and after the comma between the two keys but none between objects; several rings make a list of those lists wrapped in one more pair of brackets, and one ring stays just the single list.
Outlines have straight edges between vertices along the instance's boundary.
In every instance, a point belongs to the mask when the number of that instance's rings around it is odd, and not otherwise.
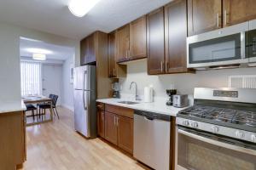
[{"label": "lower door of the stainless steel refrigerator", "polygon": [[90,138],[90,91],[74,91],[75,130]]}]

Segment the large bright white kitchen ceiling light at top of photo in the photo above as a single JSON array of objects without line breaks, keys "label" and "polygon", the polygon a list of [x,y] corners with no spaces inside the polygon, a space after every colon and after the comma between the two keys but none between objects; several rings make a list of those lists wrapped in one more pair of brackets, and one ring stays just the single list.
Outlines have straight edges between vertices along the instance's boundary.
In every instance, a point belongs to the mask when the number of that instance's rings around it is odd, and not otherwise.
[{"label": "large bright white kitchen ceiling light at top of photo", "polygon": [[68,8],[75,16],[83,17],[99,2],[100,0],[71,0]]}]

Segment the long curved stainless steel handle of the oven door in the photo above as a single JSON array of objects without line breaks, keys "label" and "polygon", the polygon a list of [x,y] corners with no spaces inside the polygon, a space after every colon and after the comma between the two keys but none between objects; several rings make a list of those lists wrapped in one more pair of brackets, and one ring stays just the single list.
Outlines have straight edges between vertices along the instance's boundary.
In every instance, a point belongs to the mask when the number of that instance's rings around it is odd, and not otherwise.
[{"label": "long curved stainless steel handle of the oven door", "polygon": [[247,149],[247,148],[242,148],[241,146],[236,146],[234,144],[226,144],[226,143],[223,143],[223,142],[219,142],[217,140],[207,139],[207,138],[202,137],[200,135],[197,135],[197,134],[194,134],[194,133],[189,133],[189,132],[186,132],[186,131],[181,130],[181,129],[178,129],[177,132],[181,133],[185,136],[188,136],[190,138],[201,140],[202,142],[206,142],[208,144],[214,144],[214,145],[217,145],[219,147],[227,148],[227,149],[230,149],[230,150],[236,150],[236,151],[239,151],[239,152],[243,152],[243,153],[246,153],[246,154],[256,156],[256,150],[250,150],[250,149]]}]

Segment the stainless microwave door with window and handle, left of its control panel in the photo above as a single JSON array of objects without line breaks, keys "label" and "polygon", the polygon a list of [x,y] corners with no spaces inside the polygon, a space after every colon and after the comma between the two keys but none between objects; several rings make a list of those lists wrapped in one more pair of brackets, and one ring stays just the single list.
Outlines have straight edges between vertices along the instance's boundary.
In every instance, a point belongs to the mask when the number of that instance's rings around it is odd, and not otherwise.
[{"label": "stainless microwave door with window and handle, left of its control panel", "polygon": [[189,68],[248,63],[245,52],[245,32],[248,22],[187,38]]}]

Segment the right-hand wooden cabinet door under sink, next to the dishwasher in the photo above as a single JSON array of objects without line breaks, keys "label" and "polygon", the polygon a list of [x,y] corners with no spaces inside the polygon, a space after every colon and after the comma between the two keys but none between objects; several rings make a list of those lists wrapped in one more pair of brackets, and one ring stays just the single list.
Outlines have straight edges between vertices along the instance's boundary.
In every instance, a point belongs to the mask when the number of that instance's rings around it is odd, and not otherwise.
[{"label": "right-hand wooden cabinet door under sink, next to the dishwasher", "polygon": [[118,145],[123,150],[133,153],[133,119],[118,116]]}]

